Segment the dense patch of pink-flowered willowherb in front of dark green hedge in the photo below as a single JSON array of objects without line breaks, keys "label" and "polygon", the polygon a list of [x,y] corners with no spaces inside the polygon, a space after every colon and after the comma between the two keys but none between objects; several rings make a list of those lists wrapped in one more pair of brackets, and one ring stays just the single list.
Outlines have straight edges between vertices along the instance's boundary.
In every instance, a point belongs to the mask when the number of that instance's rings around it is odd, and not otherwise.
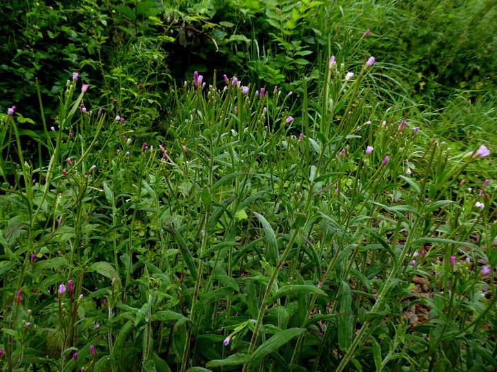
[{"label": "dense patch of pink-flowered willowherb in front of dark green hedge", "polygon": [[423,147],[342,60],[317,99],[195,73],[146,143],[73,76],[37,163],[3,115],[1,365],[492,366],[495,192],[461,182],[489,151]]}]

